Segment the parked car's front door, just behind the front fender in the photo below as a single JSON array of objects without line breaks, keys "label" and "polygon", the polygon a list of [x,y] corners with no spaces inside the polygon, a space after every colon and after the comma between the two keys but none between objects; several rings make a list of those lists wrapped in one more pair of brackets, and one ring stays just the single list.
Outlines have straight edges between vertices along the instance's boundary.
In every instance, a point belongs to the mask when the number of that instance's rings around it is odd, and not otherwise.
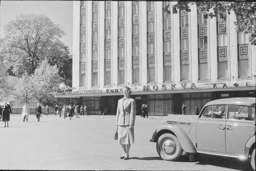
[{"label": "parked car's front door, just behind the front fender", "polygon": [[[225,106],[224,106],[225,107]],[[226,107],[225,107],[226,109]],[[224,118],[214,118],[213,106],[204,109],[196,126],[196,144],[198,150],[226,153]]]}]

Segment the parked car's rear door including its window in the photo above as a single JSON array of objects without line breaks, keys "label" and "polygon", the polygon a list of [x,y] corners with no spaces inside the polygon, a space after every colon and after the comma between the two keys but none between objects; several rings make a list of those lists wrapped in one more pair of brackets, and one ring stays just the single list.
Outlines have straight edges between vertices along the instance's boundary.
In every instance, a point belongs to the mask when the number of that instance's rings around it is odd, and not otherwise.
[{"label": "parked car's rear door including its window", "polygon": [[244,147],[254,134],[255,107],[229,105],[226,122],[227,153],[244,155]]}]

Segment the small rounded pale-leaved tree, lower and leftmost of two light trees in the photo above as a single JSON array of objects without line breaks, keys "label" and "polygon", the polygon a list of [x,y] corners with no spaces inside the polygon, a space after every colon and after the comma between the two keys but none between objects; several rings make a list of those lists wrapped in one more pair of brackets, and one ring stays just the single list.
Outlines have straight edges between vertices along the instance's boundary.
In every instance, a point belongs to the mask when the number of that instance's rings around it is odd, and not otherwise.
[{"label": "small rounded pale-leaved tree, lower and leftmost of two light trees", "polygon": [[36,99],[38,89],[32,76],[25,73],[20,80],[12,87],[12,94],[20,102],[30,103]]}]

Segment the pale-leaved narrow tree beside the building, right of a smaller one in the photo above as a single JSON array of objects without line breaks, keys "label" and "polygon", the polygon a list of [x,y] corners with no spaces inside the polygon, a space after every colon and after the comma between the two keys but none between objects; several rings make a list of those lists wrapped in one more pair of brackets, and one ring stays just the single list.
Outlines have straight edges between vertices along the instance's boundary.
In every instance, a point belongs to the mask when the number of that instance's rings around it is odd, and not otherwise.
[{"label": "pale-leaved narrow tree beside the building, right of a smaller one", "polygon": [[59,75],[57,65],[51,66],[48,59],[45,58],[35,70],[33,81],[36,83],[36,89],[38,90],[36,99],[47,105],[49,102],[55,101],[54,95],[57,93],[63,78]]}]

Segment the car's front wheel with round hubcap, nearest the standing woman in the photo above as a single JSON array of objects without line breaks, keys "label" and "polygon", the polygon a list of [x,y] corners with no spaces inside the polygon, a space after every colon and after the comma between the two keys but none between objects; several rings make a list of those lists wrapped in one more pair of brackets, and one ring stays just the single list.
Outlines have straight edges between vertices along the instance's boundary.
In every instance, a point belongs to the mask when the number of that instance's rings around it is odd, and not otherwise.
[{"label": "car's front wheel with round hubcap, nearest the standing woman", "polygon": [[180,157],[182,148],[175,135],[165,133],[158,138],[156,151],[163,160],[175,161]]}]

